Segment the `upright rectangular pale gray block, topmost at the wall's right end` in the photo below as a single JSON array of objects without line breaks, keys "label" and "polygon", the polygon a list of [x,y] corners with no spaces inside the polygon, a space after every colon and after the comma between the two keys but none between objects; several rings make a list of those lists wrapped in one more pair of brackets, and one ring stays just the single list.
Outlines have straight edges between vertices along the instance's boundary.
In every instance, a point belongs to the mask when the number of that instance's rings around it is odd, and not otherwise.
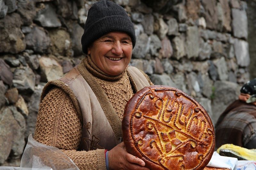
[{"label": "upright rectangular pale gray block, topmost at the wall's right end", "polygon": [[237,38],[247,39],[248,37],[248,23],[245,11],[232,9],[232,31]]}]

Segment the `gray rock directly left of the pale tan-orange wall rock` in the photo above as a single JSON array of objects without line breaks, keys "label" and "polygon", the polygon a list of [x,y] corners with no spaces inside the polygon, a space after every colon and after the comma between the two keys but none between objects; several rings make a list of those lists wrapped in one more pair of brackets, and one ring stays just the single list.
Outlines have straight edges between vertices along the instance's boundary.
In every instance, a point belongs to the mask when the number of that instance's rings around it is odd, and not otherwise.
[{"label": "gray rock directly left of the pale tan-orange wall rock", "polygon": [[34,92],[35,80],[33,71],[29,67],[24,67],[15,69],[12,82],[19,92],[28,94]]}]

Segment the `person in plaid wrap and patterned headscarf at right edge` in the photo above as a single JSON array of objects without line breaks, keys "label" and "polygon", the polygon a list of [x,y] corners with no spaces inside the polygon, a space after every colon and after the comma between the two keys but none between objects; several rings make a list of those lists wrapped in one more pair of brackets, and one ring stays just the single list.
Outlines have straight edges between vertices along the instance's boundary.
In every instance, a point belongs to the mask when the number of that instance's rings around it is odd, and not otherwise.
[{"label": "person in plaid wrap and patterned headscarf at right edge", "polygon": [[234,144],[256,148],[256,78],[244,84],[239,99],[231,103],[215,125],[216,147]]}]

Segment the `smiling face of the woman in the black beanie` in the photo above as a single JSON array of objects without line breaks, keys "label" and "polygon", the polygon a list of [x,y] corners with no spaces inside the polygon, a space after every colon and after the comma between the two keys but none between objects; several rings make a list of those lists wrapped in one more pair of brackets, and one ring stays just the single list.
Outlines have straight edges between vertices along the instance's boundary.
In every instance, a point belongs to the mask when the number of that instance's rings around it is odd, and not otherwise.
[{"label": "smiling face of the woman in the black beanie", "polygon": [[132,39],[123,32],[110,32],[95,40],[88,48],[92,62],[103,72],[121,74],[132,58]]}]

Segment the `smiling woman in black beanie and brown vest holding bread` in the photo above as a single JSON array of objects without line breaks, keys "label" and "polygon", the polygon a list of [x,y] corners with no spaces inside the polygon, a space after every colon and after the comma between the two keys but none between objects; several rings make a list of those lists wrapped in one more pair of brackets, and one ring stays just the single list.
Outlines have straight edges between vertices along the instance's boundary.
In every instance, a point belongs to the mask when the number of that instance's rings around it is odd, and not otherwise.
[{"label": "smiling woman in black beanie and brown vest holding bread", "polygon": [[45,85],[34,138],[61,149],[80,169],[148,169],[121,142],[125,104],[152,85],[145,73],[127,67],[136,42],[132,22],[120,5],[101,0],[84,28],[87,56]]}]

